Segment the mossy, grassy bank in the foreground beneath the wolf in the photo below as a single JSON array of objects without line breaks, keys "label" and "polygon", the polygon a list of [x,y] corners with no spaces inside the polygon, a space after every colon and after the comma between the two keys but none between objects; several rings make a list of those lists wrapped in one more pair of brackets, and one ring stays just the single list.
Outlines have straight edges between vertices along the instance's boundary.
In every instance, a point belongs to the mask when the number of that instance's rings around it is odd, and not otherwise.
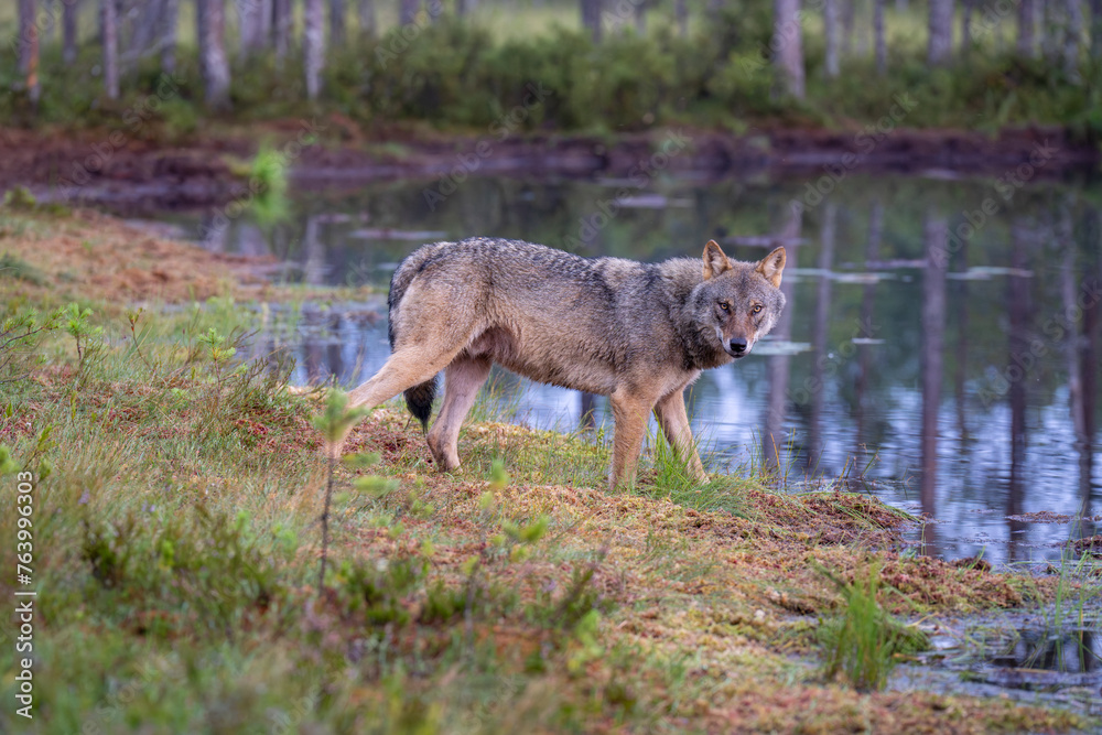
[{"label": "mossy, grassy bank in the foreground beneath the wolf", "polygon": [[[900,616],[1039,603],[1056,580],[900,555],[889,550],[897,511],[860,495],[779,494],[749,468],[692,488],[658,452],[634,491],[609,494],[603,446],[489,420],[465,429],[455,475],[432,472],[400,411],[358,425],[346,451],[361,461],[337,468],[318,590],[320,396],[288,390],[278,360],[238,360],[263,292],[202,251],[155,241],[163,257],[192,258],[193,279],[222,273],[204,294],[216,298],[120,298],[51,253],[121,225],[0,214],[9,315],[36,306],[41,324],[80,303],[0,360],[0,444],[13,457],[0,478],[0,563],[17,564],[10,473],[30,472],[39,591],[35,718],[6,707],[6,731],[1093,725],[1002,700],[862,692],[815,666],[818,616],[845,608],[845,585],[869,569],[879,606]],[[95,244],[88,258],[97,252],[111,259]],[[6,599],[14,586],[0,577]],[[15,669],[10,641],[0,667]],[[15,690],[0,680],[6,702]]]}]

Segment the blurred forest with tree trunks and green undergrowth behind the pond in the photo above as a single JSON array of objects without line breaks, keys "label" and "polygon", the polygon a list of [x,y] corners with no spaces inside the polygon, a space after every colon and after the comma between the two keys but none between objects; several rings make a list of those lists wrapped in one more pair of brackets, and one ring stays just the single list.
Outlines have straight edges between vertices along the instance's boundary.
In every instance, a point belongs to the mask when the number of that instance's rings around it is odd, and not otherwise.
[{"label": "blurred forest with tree trunks and green undergrowth behind the pond", "polygon": [[[0,116],[529,130],[1102,127],[1102,0],[13,0]],[[165,77],[172,83],[165,86]],[[168,94],[164,90],[169,89]]]}]

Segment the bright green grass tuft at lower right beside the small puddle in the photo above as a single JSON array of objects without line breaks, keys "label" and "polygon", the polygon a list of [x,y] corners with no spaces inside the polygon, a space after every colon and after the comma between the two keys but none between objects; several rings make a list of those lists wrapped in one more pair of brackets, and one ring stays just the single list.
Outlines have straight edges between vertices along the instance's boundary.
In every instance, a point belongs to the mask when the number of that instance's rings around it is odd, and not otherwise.
[{"label": "bright green grass tuft at lower right beside the small puddle", "polygon": [[897,656],[929,647],[926,634],[898,623],[880,607],[879,566],[869,565],[864,576],[857,572],[852,583],[842,582],[825,569],[819,571],[835,584],[845,605],[838,616],[820,621],[825,675],[833,678],[841,672],[858,691],[883,689]]}]

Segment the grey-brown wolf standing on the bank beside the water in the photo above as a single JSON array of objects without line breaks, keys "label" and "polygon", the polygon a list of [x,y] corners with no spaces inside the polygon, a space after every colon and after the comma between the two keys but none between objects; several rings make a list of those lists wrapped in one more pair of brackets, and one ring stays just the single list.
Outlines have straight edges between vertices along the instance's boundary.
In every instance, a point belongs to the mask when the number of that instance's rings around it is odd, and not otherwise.
[{"label": "grey-brown wolf standing on the bank beside the water", "polygon": [[651,410],[670,445],[706,479],[692,441],[684,388],[701,370],[749,354],[785,307],[785,249],[757,263],[710,241],[691,258],[640,263],[580,258],[514,240],[426,245],[390,281],[386,365],[352,392],[375,407],[406,392],[428,429],[435,376],[444,404],[429,448],[460,466],[460,424],[498,363],[522,376],[608,396],[616,421],[609,482],[630,483]]}]

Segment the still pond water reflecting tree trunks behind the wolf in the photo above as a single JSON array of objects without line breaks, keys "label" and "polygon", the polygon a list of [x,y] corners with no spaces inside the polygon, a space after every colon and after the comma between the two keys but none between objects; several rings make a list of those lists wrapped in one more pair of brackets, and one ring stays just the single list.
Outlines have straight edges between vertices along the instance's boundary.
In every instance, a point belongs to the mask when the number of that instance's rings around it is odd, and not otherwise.
[{"label": "still pond water reflecting tree trunks behind the wolf", "polygon": [[[623,181],[486,177],[434,209],[432,181],[300,184],[272,233],[175,219],[205,247],[277,255],[288,279],[383,292],[418,246],[473,235],[648,261],[710,238],[744,260],[786,245],[781,322],[689,397],[713,466],[773,461],[792,489],[841,485],[926,514],[922,553],[1059,566],[1102,525],[1102,182],[1031,183],[1007,199],[994,180],[938,174],[851,175],[821,198],[810,181],[669,179],[617,202]],[[299,380],[370,377],[389,350],[385,314],[381,295],[307,309]],[[580,393],[496,383],[518,421],[582,420]],[[604,399],[593,409],[611,425]]]}]

